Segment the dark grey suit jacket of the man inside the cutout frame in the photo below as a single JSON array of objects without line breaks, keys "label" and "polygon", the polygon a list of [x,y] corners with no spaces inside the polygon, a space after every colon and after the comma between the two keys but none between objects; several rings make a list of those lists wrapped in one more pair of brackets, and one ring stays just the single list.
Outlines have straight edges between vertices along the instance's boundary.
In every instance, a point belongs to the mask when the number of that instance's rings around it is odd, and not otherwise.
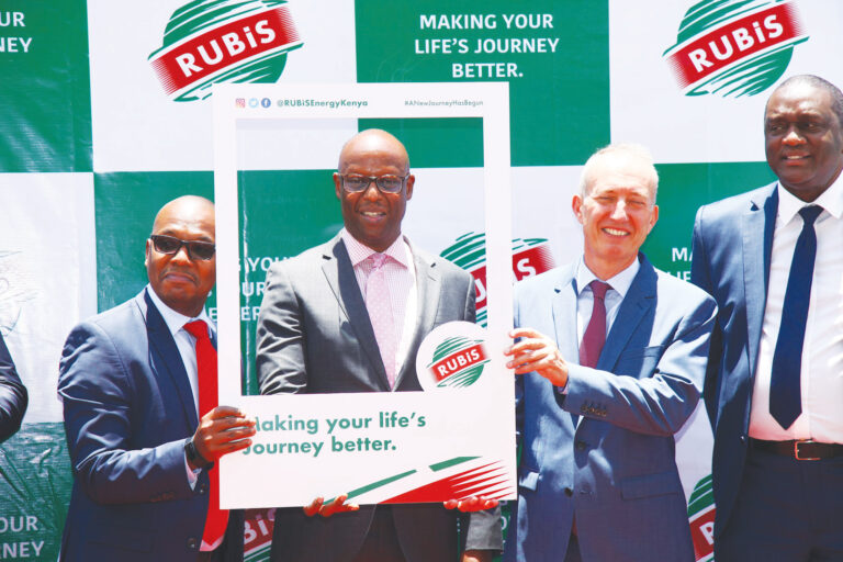
[{"label": "dark grey suit jacket of the man inside the cutout frame", "polygon": [[[436,326],[474,321],[471,277],[438,257],[413,248],[418,290],[418,323],[396,391],[420,391],[416,352]],[[345,244],[339,237],[274,263],[258,319],[258,379],[262,394],[281,392],[390,392],[378,342]],[[290,483],[292,484],[292,483]],[[451,561],[458,557],[459,516],[441,505],[391,507],[398,540],[409,562]],[[366,539],[374,506],[307,518],[300,508],[279,509],[273,561],[342,562],[353,559]],[[463,524],[468,518],[462,518]],[[470,548],[501,548],[494,516],[472,517]]]}]

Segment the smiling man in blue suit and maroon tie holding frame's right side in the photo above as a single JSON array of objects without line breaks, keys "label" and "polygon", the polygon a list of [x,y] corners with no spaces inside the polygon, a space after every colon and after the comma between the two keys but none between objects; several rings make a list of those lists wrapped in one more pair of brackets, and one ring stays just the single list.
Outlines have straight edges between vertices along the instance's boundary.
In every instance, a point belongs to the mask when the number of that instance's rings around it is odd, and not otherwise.
[{"label": "smiling man in blue suit and maroon tie holding frame's right side", "polygon": [[598,150],[572,203],[582,258],[516,285],[508,562],[694,560],[674,435],[702,391],[717,308],[639,251],[657,182],[643,147]]}]

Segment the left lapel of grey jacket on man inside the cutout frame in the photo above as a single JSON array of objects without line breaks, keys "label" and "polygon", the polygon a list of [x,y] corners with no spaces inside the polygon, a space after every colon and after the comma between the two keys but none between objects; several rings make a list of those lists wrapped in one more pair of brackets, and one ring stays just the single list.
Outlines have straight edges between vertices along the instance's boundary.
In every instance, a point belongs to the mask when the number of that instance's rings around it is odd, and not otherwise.
[{"label": "left lapel of grey jacket on man inside the cutout frame", "polygon": [[360,293],[360,285],[355,277],[355,268],[351,266],[351,259],[348,257],[346,245],[337,236],[327,245],[327,251],[323,255],[324,262],[322,271],[325,279],[337,299],[340,310],[348,317],[351,328],[357,335],[372,369],[381,379],[383,389],[389,390],[390,384],[386,379],[386,370],[383,368],[381,351],[378,348],[378,340],[374,338],[372,322],[369,319],[369,312],[366,310],[366,301]]}]

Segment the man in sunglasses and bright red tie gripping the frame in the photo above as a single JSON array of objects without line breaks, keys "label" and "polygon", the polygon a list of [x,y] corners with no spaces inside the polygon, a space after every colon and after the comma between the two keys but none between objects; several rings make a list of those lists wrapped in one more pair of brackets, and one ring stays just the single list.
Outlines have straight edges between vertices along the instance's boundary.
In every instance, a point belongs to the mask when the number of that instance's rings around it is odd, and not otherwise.
[{"label": "man in sunglasses and bright red tie gripping the frame", "polygon": [[156,215],[149,284],[67,338],[58,394],[74,469],[60,560],[243,561],[243,513],[218,509],[214,461],[255,422],[216,406],[214,205]]}]

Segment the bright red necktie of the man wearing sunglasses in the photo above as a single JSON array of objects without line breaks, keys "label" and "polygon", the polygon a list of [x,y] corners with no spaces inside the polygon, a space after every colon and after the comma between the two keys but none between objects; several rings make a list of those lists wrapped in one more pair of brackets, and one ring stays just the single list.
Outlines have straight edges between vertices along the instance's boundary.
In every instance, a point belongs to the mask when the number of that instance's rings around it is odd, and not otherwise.
[{"label": "bright red necktie of the man wearing sunglasses", "polygon": [[[199,373],[199,417],[201,418],[217,406],[216,349],[207,335],[204,321],[193,321],[184,325],[188,334],[196,338],[196,371]],[[216,464],[207,471],[211,479],[207,518],[202,542],[216,547],[228,526],[228,510],[220,509],[220,471]]]}]

